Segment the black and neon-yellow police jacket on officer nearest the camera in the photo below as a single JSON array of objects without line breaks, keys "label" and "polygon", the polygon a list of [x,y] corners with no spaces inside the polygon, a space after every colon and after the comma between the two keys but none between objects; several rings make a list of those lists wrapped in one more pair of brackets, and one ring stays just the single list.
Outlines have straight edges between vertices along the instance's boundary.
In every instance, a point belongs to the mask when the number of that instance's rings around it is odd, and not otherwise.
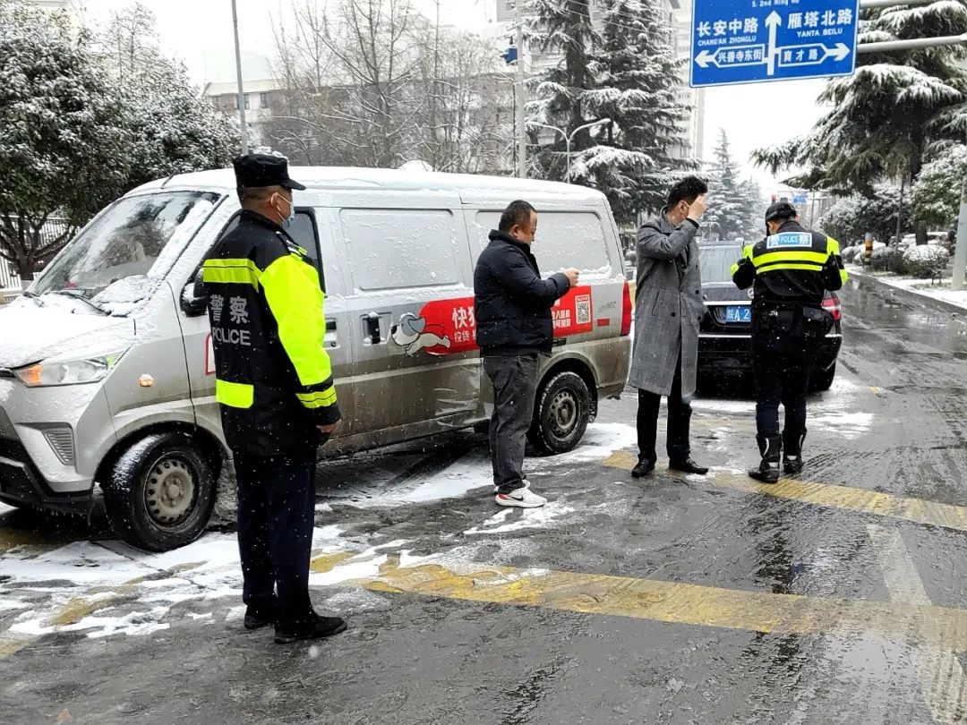
[{"label": "black and neon-yellow police jacket on officer nearest the camera", "polygon": [[278,224],[245,211],[203,266],[216,397],[236,454],[307,454],[339,420],[319,275]]}]

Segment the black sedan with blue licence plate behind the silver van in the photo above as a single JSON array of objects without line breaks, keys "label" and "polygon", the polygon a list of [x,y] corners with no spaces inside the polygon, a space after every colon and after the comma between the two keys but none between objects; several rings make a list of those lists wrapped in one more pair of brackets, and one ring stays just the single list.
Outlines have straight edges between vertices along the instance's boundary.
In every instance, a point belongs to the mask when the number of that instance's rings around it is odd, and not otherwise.
[{"label": "black sedan with blue licence plate behind the silver van", "polygon": [[[698,334],[698,380],[707,384],[716,378],[738,378],[752,372],[751,289],[743,291],[732,283],[732,265],[742,257],[740,242],[711,242],[701,245],[702,294],[706,314]],[[836,356],[842,344],[842,311],[839,298],[826,293],[823,307],[833,314],[833,331],[826,336],[818,354],[818,368],[809,387],[828,391],[836,374]]]}]

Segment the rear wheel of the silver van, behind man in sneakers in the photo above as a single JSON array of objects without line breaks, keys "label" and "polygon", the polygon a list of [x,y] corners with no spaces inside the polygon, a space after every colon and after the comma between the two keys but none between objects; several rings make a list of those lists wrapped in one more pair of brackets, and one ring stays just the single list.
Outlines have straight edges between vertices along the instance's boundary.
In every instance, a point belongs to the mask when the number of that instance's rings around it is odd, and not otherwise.
[{"label": "rear wheel of the silver van, behind man in sneakers", "polygon": [[559,372],[538,391],[527,439],[542,453],[567,453],[581,442],[590,418],[587,384],[575,372]]}]

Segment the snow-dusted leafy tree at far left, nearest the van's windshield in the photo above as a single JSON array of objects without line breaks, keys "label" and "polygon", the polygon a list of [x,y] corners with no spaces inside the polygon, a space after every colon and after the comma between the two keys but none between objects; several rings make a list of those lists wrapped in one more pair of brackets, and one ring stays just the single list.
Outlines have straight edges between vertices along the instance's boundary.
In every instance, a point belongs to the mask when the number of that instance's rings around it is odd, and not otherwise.
[{"label": "snow-dusted leafy tree at far left, nearest the van's windshield", "polygon": [[[123,116],[66,18],[0,4],[0,257],[21,279],[124,187]],[[55,216],[67,229],[49,239]]]}]

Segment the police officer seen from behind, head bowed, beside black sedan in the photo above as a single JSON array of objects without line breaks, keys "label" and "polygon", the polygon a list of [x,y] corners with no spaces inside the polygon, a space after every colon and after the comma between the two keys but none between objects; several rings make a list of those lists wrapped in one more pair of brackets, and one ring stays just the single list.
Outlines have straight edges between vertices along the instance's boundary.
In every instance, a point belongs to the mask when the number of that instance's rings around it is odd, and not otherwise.
[{"label": "police officer seen from behind, head bowed, beside black sedan", "polygon": [[[752,356],[755,372],[755,422],[762,460],[748,475],[767,483],[779,479],[779,453],[786,474],[803,470],[806,391],[812,352],[833,328],[823,309],[826,290],[846,281],[839,243],[799,223],[788,202],[766,212],[768,236],[743,250],[732,267],[739,289],[754,285]],[[779,435],[779,403],[785,429]]]}]

